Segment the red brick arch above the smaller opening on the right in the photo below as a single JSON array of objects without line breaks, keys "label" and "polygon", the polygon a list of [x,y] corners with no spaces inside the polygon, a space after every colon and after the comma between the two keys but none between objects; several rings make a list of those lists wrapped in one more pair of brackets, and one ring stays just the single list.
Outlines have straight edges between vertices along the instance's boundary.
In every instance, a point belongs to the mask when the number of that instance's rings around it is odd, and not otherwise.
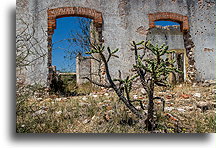
[{"label": "red brick arch above the smaller opening on the right", "polygon": [[188,17],[172,12],[157,12],[148,14],[149,28],[155,27],[155,21],[173,21],[180,23],[181,31],[189,31]]}]

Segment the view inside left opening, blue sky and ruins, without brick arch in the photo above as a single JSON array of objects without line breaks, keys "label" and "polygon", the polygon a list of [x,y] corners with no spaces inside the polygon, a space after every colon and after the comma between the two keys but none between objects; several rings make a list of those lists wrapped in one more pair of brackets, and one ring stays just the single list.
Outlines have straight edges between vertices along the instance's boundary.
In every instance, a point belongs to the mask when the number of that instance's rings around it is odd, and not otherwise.
[{"label": "view inside left opening, blue sky and ruins, without brick arch", "polygon": [[90,49],[91,24],[92,20],[84,17],[56,19],[52,36],[53,76],[50,84],[53,93],[77,95],[77,81],[80,79],[77,76],[89,77],[91,74],[91,59],[85,53]]}]

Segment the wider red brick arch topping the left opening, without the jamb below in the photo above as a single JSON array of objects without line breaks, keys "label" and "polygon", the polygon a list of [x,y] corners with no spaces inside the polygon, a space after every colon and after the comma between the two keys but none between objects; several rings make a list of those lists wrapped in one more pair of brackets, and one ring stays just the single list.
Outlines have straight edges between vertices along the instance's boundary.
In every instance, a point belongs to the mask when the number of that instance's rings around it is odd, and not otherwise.
[{"label": "wider red brick arch topping the left opening, without the jamb below", "polygon": [[84,7],[61,7],[48,9],[48,34],[53,34],[56,29],[56,19],[69,16],[80,16],[93,19],[96,26],[102,26],[102,13],[95,9]]}]

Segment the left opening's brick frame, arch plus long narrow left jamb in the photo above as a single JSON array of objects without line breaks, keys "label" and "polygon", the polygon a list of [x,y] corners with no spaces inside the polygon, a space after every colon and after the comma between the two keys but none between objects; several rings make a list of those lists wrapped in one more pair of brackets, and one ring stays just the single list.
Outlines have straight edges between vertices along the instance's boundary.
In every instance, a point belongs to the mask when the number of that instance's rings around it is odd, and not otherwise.
[{"label": "left opening's brick frame, arch plus long narrow left jamb", "polygon": [[48,9],[47,10],[47,33],[48,33],[48,85],[51,82],[52,79],[52,35],[54,33],[54,30],[56,29],[56,19],[62,18],[62,17],[71,17],[71,16],[78,16],[78,17],[85,17],[90,18],[93,20],[93,24],[97,30],[97,32],[100,35],[100,39],[102,39],[102,24],[103,24],[103,18],[102,13],[90,8],[85,7],[60,7],[60,8],[54,8],[54,9]]}]

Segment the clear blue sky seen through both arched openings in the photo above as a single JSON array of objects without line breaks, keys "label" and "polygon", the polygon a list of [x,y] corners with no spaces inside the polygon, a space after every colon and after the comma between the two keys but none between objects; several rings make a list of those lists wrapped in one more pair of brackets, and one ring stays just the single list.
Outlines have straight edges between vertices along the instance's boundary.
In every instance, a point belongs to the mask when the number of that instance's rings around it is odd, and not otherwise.
[{"label": "clear blue sky seen through both arched openings", "polygon": [[[170,21],[156,21],[155,25],[168,26],[179,25]],[[63,17],[56,21],[56,29],[53,34],[52,43],[52,65],[55,65],[57,70],[75,72],[76,71],[76,59],[73,57],[71,60],[65,58],[67,52],[65,49],[69,47],[68,41],[61,41],[63,39],[70,38],[70,31],[80,31],[79,17]],[[74,48],[74,47],[73,47]],[[71,48],[72,50],[72,48]]]}]

